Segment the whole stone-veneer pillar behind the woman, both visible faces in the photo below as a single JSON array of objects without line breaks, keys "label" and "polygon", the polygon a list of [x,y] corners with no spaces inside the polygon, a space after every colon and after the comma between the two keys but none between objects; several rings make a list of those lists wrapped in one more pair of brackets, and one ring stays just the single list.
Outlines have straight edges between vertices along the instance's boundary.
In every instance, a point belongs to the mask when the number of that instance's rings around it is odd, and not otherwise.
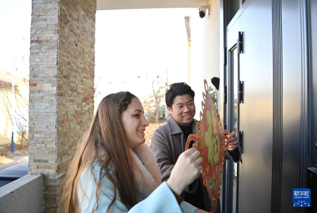
[{"label": "whole stone-veneer pillar behind the woman, both visible faces", "polygon": [[94,111],[96,0],[33,0],[29,173],[44,174],[44,212],[56,212],[62,181]]}]

